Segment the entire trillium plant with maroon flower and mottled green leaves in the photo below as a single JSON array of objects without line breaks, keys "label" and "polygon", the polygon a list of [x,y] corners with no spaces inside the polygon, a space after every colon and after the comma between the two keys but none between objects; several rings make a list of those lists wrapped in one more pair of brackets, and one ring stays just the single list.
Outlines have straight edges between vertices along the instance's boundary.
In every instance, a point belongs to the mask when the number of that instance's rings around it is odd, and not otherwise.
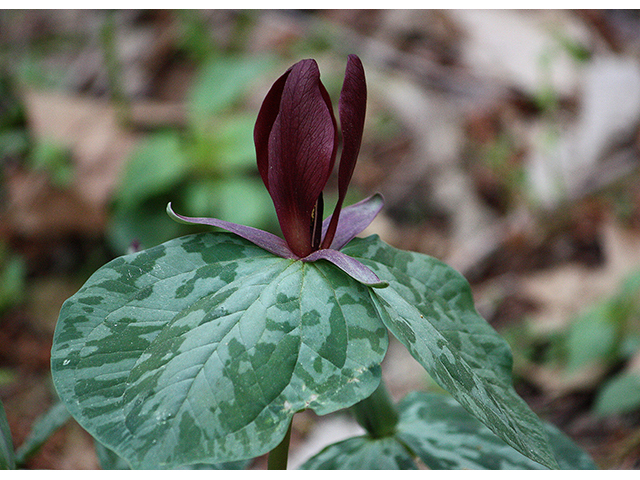
[{"label": "entire trillium plant with maroon flower and mottled green leaves", "polygon": [[[314,60],[267,93],[254,142],[283,238],[218,227],[117,258],[62,307],[57,392],[103,466],[286,468],[294,415],[348,409],[365,434],[302,465],[320,469],[594,468],[516,394],[505,341],[444,263],[356,238],[380,195],[344,206],[367,93],[350,55],[338,121]],[[339,146],[341,144],[341,148]],[[340,150],[338,197],[323,190]],[[389,334],[448,394],[394,403],[381,381]]]}]

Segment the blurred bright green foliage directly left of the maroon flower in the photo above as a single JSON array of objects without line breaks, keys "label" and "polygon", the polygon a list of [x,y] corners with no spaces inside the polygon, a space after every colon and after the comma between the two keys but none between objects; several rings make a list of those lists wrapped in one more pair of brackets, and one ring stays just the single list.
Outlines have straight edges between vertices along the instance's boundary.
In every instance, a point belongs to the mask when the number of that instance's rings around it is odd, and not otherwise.
[{"label": "blurred bright green foliage directly left of the maroon flower", "polygon": [[255,162],[257,112],[239,108],[252,82],[273,66],[268,57],[223,55],[202,65],[188,94],[185,129],[154,132],[128,162],[108,232],[117,252],[195,231],[169,219],[169,201],[184,215],[275,228]]}]

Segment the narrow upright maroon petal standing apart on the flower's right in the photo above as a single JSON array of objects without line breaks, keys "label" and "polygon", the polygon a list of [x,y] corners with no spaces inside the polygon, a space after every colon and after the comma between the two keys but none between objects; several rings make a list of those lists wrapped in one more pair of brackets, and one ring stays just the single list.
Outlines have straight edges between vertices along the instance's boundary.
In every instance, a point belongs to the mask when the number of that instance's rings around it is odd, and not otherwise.
[{"label": "narrow upright maroon petal standing apart on the flower's right", "polygon": [[331,245],[335,235],[340,210],[353,176],[358,153],[360,153],[366,108],[367,84],[364,68],[356,55],[349,55],[338,107],[340,128],[342,129],[342,154],[338,170],[338,202],[331,218],[331,224],[327,229],[327,235],[322,243],[323,248],[328,248]]}]

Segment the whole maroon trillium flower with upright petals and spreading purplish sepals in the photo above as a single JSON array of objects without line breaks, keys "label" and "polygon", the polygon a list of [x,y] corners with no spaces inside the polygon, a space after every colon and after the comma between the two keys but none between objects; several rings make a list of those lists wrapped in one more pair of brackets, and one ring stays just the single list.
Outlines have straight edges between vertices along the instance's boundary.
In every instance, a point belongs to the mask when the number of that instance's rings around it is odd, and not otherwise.
[{"label": "whole maroon trillium flower with upright petals and spreading purplish sepals", "polygon": [[375,194],[343,208],[364,129],[367,87],[362,62],[349,55],[338,106],[342,152],[338,201],[322,221],[324,190],[338,151],[338,126],[315,60],[289,68],[267,93],[254,129],[258,171],[276,209],[284,239],[257,228],[216,218],[169,215],[177,221],[222,228],[283,258],[327,260],[356,280],[384,286],[368,267],[339,250],[362,232],[382,208]]}]

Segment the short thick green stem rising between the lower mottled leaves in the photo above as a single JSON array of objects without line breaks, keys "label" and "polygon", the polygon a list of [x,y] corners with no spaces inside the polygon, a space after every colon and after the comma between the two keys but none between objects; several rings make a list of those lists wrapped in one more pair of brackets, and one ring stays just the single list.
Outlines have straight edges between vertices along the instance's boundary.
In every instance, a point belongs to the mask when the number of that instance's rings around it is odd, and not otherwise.
[{"label": "short thick green stem rising between the lower mottled leaves", "polygon": [[356,403],[351,407],[351,411],[358,423],[373,438],[392,435],[398,424],[398,411],[382,380],[371,396]]}]

